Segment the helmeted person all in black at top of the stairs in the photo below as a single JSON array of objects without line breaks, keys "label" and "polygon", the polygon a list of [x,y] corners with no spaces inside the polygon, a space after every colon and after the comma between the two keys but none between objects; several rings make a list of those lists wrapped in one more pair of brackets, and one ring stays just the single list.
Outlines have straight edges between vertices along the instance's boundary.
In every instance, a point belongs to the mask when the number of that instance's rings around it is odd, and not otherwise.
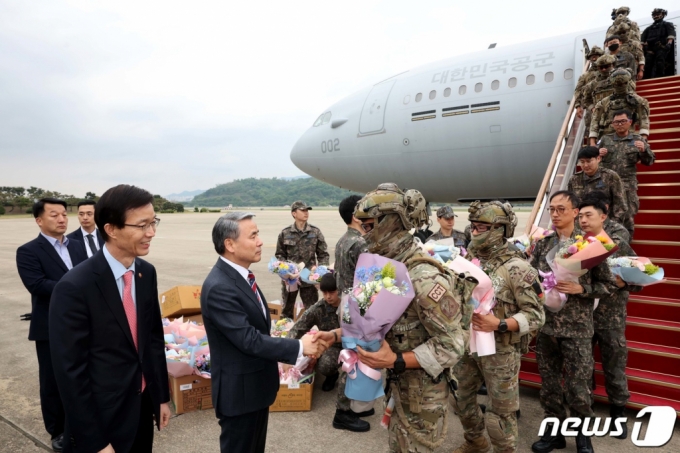
[{"label": "helmeted person all in black at top of the stairs", "polygon": [[654,8],[654,23],[642,32],[642,46],[648,60],[645,79],[673,75],[673,43],[675,42],[675,25],[663,20],[668,12]]}]

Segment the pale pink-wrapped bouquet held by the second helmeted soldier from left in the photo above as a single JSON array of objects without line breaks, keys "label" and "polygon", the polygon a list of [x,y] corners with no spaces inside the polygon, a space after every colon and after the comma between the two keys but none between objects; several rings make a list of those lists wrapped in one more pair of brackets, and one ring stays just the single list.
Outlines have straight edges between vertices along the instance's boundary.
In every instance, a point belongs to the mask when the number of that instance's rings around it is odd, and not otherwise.
[{"label": "pale pink-wrapped bouquet held by the second helmeted soldier from left", "polygon": [[[457,274],[468,273],[477,281],[477,287],[472,291],[472,298],[468,303],[474,305],[474,313],[487,315],[496,305],[493,281],[479,267],[477,259],[468,261],[458,256],[446,263],[446,266]],[[496,353],[496,338],[493,332],[481,332],[473,329],[470,323],[470,352],[479,357]]]}]

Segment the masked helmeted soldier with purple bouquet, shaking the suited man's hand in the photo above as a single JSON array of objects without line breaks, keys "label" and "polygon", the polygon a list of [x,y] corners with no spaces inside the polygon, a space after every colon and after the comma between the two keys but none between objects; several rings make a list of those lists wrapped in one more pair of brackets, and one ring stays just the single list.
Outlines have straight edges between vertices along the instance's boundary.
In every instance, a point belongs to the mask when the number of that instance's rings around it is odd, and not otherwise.
[{"label": "masked helmeted soldier with purple bouquet, shaking the suited man's hand", "polygon": [[[373,368],[387,368],[395,406],[390,452],[431,452],[446,438],[446,371],[465,352],[463,306],[476,282],[458,278],[418,247],[409,233],[427,224],[426,202],[417,190],[380,184],[357,205],[354,216],[366,231],[370,253],[406,265],[415,297],[375,353],[359,348]],[[469,323],[469,319],[468,319]]]}]

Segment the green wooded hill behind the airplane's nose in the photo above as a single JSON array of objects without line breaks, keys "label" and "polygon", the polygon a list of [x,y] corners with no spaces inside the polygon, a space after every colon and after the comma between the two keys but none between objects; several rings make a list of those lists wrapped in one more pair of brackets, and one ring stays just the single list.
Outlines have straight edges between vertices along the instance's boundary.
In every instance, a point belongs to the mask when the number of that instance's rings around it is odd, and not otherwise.
[{"label": "green wooded hill behind the airplane's nose", "polygon": [[[286,206],[303,200],[311,206],[337,206],[355,194],[314,178],[285,180],[279,178],[248,178],[220,184],[197,195],[187,203],[192,206]],[[358,194],[361,195],[361,194]]]}]

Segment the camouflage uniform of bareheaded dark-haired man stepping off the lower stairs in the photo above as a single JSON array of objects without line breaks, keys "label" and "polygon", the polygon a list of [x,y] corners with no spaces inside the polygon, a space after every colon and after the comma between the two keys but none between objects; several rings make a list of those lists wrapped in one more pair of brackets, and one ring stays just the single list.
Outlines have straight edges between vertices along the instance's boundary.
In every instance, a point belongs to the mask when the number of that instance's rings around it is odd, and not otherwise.
[{"label": "camouflage uniform of bareheaded dark-haired man stepping off the lower stairs", "polygon": [[623,188],[621,178],[616,172],[606,168],[598,168],[593,176],[588,176],[584,171],[575,173],[567,186],[579,198],[599,190],[609,197],[609,215],[617,222],[623,221],[627,216],[628,201]]}]

